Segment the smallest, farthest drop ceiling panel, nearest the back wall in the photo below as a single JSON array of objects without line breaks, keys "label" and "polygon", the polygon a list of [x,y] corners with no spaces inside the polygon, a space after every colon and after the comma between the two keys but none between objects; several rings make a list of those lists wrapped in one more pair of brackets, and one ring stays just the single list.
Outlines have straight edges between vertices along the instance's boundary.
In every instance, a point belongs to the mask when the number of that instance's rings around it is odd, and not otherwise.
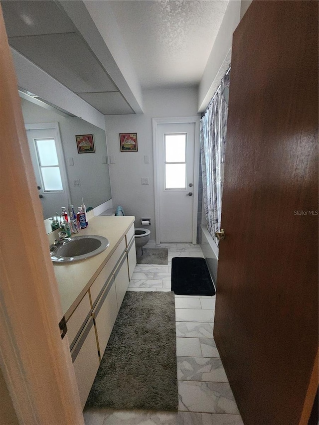
[{"label": "smallest, farthest drop ceiling panel, nearest the back wall", "polygon": [[78,93],[104,115],[134,114],[121,93]]}]

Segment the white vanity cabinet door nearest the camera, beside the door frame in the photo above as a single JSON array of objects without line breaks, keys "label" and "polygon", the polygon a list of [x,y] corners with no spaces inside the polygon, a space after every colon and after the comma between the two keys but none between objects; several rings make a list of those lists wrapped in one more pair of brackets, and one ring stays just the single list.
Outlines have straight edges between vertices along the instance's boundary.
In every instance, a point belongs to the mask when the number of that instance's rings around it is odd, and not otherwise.
[{"label": "white vanity cabinet door nearest the camera, beside the door frame", "polygon": [[71,350],[71,357],[83,409],[100,365],[92,317]]}]

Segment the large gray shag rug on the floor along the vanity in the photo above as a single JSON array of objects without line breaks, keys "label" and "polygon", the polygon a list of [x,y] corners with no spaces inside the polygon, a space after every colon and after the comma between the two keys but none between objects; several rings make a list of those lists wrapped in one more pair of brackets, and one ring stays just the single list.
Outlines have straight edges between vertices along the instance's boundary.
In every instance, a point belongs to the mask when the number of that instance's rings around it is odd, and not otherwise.
[{"label": "large gray shag rug on the floor along the vanity", "polygon": [[86,406],[177,410],[173,292],[126,293]]}]

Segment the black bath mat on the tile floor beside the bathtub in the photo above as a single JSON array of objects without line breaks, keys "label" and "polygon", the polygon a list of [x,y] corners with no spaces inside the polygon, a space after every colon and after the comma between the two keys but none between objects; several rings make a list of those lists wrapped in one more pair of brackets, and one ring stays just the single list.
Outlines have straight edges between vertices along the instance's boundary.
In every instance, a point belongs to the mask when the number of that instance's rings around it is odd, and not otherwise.
[{"label": "black bath mat on the tile floor beside the bathtub", "polygon": [[171,290],[175,295],[215,295],[205,259],[174,257],[171,261]]}]

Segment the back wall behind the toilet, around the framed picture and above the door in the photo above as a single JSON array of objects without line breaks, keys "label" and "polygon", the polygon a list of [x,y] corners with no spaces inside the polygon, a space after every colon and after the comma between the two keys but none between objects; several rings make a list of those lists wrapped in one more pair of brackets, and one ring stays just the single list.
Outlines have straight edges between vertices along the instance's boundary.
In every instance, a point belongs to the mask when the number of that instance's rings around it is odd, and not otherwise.
[{"label": "back wall behind the toilet, around the framed picture and above the door", "polygon": [[[113,206],[121,205],[126,215],[134,215],[135,227],[141,227],[142,217],[150,217],[155,240],[152,118],[197,115],[197,89],[145,90],[143,98],[144,115],[106,116],[105,127],[108,153],[116,160],[109,166]],[[120,152],[119,133],[130,132],[138,134],[138,152]],[[148,186],[142,186],[142,177],[149,178]]]}]

